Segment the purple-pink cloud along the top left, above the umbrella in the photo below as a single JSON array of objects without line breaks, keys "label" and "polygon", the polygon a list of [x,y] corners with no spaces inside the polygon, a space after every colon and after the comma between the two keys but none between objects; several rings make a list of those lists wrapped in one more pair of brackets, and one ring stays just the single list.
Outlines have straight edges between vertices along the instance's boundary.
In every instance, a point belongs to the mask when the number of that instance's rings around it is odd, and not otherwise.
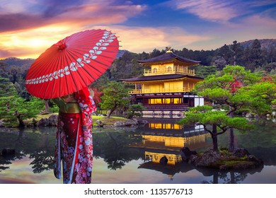
[{"label": "purple-pink cloud along the top left, above the umbrella", "polygon": [[57,23],[79,23],[84,27],[122,23],[128,17],[141,13],[145,8],[134,4],[114,5],[113,1],[105,0],[100,2],[44,0],[42,3],[18,1],[16,7],[8,6],[8,3],[0,6],[0,33]]}]

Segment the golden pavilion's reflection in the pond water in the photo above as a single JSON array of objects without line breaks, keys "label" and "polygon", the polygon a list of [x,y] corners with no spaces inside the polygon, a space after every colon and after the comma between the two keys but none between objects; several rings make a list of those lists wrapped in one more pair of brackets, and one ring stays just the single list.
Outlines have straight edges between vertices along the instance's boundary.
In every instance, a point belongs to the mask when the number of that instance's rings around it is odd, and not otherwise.
[{"label": "golden pavilion's reflection in the pond water", "polygon": [[202,126],[183,127],[168,120],[148,120],[142,128],[143,141],[133,144],[132,147],[144,148],[146,161],[159,163],[163,156],[168,159],[169,165],[182,162],[180,148],[187,146],[190,150],[197,150],[211,145],[206,141],[209,133]]}]

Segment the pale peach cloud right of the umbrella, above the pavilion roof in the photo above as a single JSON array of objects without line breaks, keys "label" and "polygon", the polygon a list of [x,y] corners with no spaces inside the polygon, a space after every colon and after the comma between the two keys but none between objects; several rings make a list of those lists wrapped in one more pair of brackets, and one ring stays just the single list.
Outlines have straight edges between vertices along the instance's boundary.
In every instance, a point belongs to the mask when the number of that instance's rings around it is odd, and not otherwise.
[{"label": "pale peach cloud right of the umbrella, above the pavilion roof", "polygon": [[[103,28],[103,27],[98,27]],[[209,40],[207,36],[192,35],[185,32],[182,28],[151,28],[151,27],[127,27],[120,25],[110,26],[113,32],[120,36],[120,45],[122,50],[130,52],[151,52],[157,50],[165,50],[171,46],[176,50],[182,50],[185,45],[192,42]]]}]

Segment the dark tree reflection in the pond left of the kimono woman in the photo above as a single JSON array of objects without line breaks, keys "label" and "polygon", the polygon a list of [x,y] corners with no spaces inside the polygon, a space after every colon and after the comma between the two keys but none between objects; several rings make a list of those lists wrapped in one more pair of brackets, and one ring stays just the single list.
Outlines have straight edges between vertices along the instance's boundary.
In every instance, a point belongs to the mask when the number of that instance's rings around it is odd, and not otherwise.
[{"label": "dark tree reflection in the pond left of the kimono woman", "polygon": [[55,139],[52,130],[49,127],[47,127],[47,132],[40,132],[38,129],[6,129],[5,132],[1,129],[1,151],[3,148],[15,148],[16,153],[13,156],[0,157],[0,171],[9,168],[7,165],[12,161],[20,160],[27,155],[34,158],[30,163],[33,165],[33,173],[52,169]]}]

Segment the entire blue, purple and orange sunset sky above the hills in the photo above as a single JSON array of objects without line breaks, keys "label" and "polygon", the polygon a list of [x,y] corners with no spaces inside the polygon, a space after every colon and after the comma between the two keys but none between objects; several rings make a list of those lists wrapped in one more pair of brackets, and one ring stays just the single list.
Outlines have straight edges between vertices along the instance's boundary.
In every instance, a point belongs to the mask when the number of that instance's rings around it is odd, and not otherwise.
[{"label": "entire blue, purple and orange sunset sky above the hills", "polygon": [[120,50],[215,50],[276,38],[275,0],[1,0],[0,59],[37,58],[57,41],[102,28]]}]

